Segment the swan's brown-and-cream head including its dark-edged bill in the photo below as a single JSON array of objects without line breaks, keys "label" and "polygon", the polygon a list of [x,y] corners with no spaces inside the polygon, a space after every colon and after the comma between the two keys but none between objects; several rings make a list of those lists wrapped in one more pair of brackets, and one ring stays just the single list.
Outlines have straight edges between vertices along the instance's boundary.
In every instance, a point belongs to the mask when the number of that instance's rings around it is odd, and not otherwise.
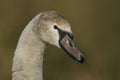
[{"label": "swan's brown-and-cream head including its dark-edged bill", "polygon": [[84,56],[73,43],[70,24],[63,16],[56,11],[42,12],[37,24],[36,30],[42,41],[62,48],[80,63],[85,61]]}]

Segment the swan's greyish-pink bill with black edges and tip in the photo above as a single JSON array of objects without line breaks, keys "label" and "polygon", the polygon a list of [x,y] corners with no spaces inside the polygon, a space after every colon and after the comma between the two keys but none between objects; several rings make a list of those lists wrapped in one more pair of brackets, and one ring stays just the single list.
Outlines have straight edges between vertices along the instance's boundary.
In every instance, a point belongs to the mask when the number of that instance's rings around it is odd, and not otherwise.
[{"label": "swan's greyish-pink bill with black edges and tip", "polygon": [[85,58],[83,54],[77,49],[72,39],[65,35],[60,41],[61,48],[68,53],[73,59],[77,60],[80,63],[84,63]]}]

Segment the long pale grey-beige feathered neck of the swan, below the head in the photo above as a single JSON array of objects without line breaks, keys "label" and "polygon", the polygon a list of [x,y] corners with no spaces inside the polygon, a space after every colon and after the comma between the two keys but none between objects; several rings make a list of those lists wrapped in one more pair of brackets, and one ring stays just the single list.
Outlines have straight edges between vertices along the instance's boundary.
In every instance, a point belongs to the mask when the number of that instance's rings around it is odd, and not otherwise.
[{"label": "long pale grey-beige feathered neck of the swan, below the head", "polygon": [[21,34],[13,59],[12,80],[43,80],[43,55],[45,43],[31,26]]}]

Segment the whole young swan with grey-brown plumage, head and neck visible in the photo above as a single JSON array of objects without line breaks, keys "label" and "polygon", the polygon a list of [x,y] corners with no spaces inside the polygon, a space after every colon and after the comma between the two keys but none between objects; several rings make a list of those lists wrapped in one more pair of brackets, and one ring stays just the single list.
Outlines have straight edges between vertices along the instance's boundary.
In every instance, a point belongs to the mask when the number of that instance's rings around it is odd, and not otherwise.
[{"label": "whole young swan with grey-brown plumage, head and neck visible", "polygon": [[55,11],[46,11],[33,18],[23,30],[13,59],[12,80],[43,80],[45,44],[62,48],[73,59],[84,62],[73,43],[68,21]]}]

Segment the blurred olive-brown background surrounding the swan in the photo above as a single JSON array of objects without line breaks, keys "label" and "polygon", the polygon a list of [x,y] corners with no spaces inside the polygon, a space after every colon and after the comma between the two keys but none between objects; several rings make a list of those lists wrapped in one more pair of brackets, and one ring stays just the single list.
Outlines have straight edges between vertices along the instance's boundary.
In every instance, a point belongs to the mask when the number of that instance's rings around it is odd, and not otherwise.
[{"label": "blurred olive-brown background surrounding the swan", "polygon": [[120,0],[0,0],[0,80],[11,80],[21,31],[36,14],[49,10],[70,22],[86,62],[79,64],[48,45],[44,80],[120,80]]}]

